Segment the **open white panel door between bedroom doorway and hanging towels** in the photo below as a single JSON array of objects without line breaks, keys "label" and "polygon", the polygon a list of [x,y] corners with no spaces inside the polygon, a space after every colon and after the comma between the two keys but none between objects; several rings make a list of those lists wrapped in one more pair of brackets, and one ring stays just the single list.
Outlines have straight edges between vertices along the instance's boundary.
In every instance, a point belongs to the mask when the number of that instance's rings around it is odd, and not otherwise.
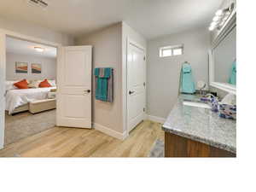
[{"label": "open white panel door between bedroom doorway and hanging towels", "polygon": [[57,67],[57,125],[91,128],[91,46],[62,47]]}]

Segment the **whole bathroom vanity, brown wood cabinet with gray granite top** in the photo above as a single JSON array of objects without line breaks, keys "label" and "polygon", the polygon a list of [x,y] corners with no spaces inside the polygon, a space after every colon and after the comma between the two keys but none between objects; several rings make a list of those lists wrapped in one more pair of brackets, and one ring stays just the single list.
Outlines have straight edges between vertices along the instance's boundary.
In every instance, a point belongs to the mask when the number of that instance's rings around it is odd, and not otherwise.
[{"label": "whole bathroom vanity, brown wood cabinet with gray granite top", "polygon": [[166,157],[236,157],[236,120],[210,108],[189,106],[200,96],[180,95],[162,126]]}]

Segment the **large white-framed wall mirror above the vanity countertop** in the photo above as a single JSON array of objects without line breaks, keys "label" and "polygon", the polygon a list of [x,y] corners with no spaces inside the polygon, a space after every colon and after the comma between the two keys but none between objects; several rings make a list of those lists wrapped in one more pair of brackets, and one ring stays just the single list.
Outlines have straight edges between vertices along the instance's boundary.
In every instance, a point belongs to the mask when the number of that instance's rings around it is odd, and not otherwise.
[{"label": "large white-framed wall mirror above the vanity countertop", "polygon": [[236,14],[213,41],[210,85],[236,94]]}]

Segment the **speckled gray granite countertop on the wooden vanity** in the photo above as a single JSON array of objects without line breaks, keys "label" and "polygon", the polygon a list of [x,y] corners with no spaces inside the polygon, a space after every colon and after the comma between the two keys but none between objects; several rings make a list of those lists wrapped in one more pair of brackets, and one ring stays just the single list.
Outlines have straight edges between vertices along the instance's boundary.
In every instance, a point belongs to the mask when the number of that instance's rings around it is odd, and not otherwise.
[{"label": "speckled gray granite countertop on the wooden vanity", "polygon": [[200,96],[178,96],[163,131],[236,154],[236,120],[220,118],[208,108],[184,106],[183,100],[199,101]]}]

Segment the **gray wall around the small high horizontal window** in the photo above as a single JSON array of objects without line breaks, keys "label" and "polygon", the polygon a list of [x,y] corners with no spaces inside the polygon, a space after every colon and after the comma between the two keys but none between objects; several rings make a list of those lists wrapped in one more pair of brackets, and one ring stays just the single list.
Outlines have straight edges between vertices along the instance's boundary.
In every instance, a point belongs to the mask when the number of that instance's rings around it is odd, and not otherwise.
[{"label": "gray wall around the small high horizontal window", "polygon": [[[183,55],[160,58],[159,48],[167,45],[184,45]],[[155,38],[148,41],[148,111],[152,116],[166,118],[177,101],[182,63],[189,61],[195,82],[208,84],[208,49],[210,33],[207,26]]]}]

